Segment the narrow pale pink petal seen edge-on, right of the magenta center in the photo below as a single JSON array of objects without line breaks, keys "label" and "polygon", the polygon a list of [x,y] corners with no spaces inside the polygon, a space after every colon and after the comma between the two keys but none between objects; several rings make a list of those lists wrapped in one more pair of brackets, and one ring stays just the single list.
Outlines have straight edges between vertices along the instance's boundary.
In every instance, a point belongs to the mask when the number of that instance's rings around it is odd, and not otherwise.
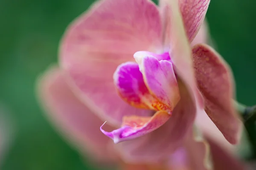
[{"label": "narrow pale pink petal seen edge-on, right of the magenta center", "polygon": [[198,110],[204,108],[203,99],[198,93],[193,70],[192,51],[183,27],[178,0],[161,0],[163,23],[165,24],[165,44],[177,73],[189,89]]}]

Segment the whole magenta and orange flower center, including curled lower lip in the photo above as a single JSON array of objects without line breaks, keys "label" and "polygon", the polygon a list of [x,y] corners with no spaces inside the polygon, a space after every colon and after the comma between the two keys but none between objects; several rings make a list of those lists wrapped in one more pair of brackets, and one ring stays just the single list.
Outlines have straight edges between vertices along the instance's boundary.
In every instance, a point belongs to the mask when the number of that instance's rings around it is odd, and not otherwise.
[{"label": "whole magenta and orange flower center, including curled lower lip", "polygon": [[138,51],[136,62],[118,66],[113,79],[119,96],[128,104],[155,111],[153,116],[124,116],[122,127],[102,132],[115,143],[134,139],[162,126],[172,115],[180,93],[168,53]]}]

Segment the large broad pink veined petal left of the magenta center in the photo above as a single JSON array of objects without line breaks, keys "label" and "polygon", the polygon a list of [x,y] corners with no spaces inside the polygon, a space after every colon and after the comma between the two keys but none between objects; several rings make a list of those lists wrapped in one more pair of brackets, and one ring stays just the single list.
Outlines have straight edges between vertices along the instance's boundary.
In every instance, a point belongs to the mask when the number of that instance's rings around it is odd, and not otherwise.
[{"label": "large broad pink veined petal left of the magenta center", "polygon": [[150,113],[120,99],[113,73],[122,62],[134,61],[136,51],[160,48],[161,36],[160,14],[151,1],[101,0],[68,28],[61,42],[61,67],[90,109],[120,125],[125,115]]}]

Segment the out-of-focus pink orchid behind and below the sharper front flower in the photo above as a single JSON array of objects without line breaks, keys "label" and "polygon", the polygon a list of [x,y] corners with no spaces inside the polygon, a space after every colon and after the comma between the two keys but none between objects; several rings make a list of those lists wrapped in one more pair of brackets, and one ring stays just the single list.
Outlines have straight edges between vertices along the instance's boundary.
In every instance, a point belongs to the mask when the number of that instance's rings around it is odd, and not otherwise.
[{"label": "out-of-focus pink orchid behind and below the sharper front flower", "polygon": [[[51,67],[40,78],[38,92],[48,118],[76,147],[82,156],[89,158],[98,165],[117,166],[120,170],[205,170],[205,147],[196,142],[192,136],[186,137],[185,144],[167,156],[167,162],[127,162],[123,159],[116,147],[107,136],[104,136],[97,127],[102,125],[100,120],[74,94],[67,84],[64,71],[58,67]],[[244,165],[230,153],[230,146],[223,136],[215,135],[219,132],[209,117],[201,116],[199,125],[207,131],[207,142],[212,150],[214,170],[243,170]],[[113,129],[105,125],[108,130]],[[191,134],[190,134],[191,135]],[[125,143],[125,142],[122,142]],[[163,152],[163,150],[157,150]],[[88,157],[87,157],[88,159]]]}]

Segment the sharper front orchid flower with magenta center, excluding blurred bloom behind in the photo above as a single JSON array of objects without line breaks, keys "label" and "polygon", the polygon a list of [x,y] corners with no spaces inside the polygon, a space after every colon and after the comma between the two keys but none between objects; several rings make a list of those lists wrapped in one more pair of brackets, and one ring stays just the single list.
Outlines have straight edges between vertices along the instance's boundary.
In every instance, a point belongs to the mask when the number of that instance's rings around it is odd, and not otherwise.
[{"label": "sharper front orchid flower with magenta center, excluding blurred bloom behind", "polygon": [[209,46],[189,45],[208,4],[102,0],[67,29],[61,68],[85,105],[121,125],[110,133],[101,127],[115,143],[148,134],[170,118],[172,127],[163,133],[178,131],[170,134],[180,139],[203,109],[230,143],[237,142],[230,70]]}]

